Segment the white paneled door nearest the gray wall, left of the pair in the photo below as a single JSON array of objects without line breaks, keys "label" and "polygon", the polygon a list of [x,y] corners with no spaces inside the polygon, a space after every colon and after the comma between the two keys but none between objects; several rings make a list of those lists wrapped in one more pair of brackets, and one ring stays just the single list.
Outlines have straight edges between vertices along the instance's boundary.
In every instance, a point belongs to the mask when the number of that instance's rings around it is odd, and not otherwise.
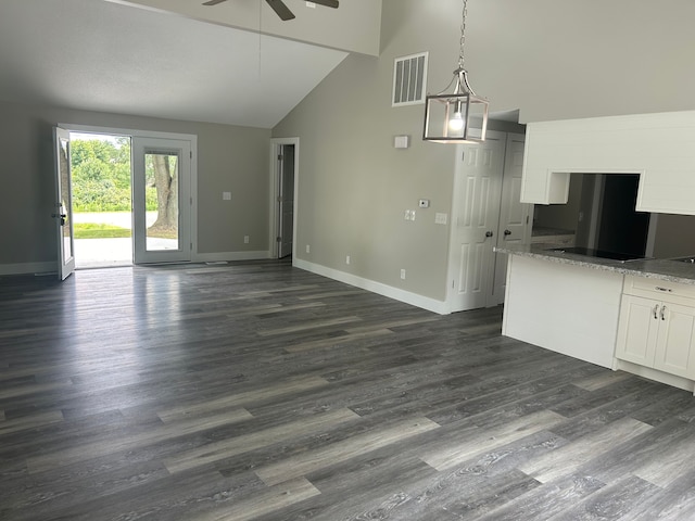
[{"label": "white paneled door nearest the gray wall, left of the pair", "polygon": [[459,145],[452,218],[448,305],[452,312],[488,305],[500,219],[504,135]]}]

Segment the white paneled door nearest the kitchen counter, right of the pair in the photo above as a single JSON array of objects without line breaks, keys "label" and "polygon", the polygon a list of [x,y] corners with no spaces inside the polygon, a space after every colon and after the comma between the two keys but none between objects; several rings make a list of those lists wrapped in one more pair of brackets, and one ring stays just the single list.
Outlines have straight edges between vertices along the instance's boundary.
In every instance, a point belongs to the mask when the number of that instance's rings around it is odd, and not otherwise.
[{"label": "white paneled door nearest the kitchen counter, right of the pair", "polygon": [[[500,227],[496,244],[528,244],[531,242],[530,204],[521,203],[521,173],[523,169],[523,142],[521,134],[507,135],[502,196],[500,200]],[[494,254],[495,265],[489,306],[504,302],[507,283],[507,255]]]}]

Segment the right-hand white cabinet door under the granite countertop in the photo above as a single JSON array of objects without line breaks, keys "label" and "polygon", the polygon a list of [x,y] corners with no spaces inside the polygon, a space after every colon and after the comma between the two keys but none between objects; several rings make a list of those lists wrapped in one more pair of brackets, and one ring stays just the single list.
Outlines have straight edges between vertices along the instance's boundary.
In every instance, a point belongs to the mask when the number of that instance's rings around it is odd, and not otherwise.
[{"label": "right-hand white cabinet door under the granite countertop", "polygon": [[654,368],[695,379],[695,309],[662,303]]}]

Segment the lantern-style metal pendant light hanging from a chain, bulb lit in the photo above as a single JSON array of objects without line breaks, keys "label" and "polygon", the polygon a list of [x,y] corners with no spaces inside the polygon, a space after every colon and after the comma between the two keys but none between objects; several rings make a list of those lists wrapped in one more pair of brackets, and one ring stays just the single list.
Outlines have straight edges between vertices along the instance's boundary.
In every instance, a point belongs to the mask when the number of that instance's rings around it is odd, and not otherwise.
[{"label": "lantern-style metal pendant light hanging from a chain, bulb lit", "polygon": [[[460,50],[458,68],[446,88],[425,99],[425,129],[422,139],[435,143],[481,143],[488,130],[488,100],[473,92],[468,84],[468,72],[464,67],[466,43],[467,0],[460,25]],[[454,87],[453,91],[450,89]],[[447,93],[447,91],[450,93]]]}]

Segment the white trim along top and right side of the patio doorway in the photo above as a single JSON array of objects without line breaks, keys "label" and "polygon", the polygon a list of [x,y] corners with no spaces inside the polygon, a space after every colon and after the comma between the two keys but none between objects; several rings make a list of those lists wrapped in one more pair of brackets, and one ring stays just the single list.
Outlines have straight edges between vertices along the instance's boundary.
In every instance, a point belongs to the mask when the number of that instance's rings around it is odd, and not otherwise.
[{"label": "white trim along top and right side of the patio doorway", "polygon": [[[190,141],[191,152],[193,157],[191,158],[191,262],[198,260],[198,136],[194,134],[177,134],[177,132],[162,132],[155,130],[141,130],[132,128],[121,127],[100,127],[97,125],[77,125],[72,123],[58,123],[59,127],[64,128],[71,132],[93,132],[93,134],[113,134],[119,136],[129,136],[130,138],[160,138],[160,139],[173,139],[180,141]],[[130,167],[132,169],[132,166]],[[132,176],[132,171],[130,173]]]}]

